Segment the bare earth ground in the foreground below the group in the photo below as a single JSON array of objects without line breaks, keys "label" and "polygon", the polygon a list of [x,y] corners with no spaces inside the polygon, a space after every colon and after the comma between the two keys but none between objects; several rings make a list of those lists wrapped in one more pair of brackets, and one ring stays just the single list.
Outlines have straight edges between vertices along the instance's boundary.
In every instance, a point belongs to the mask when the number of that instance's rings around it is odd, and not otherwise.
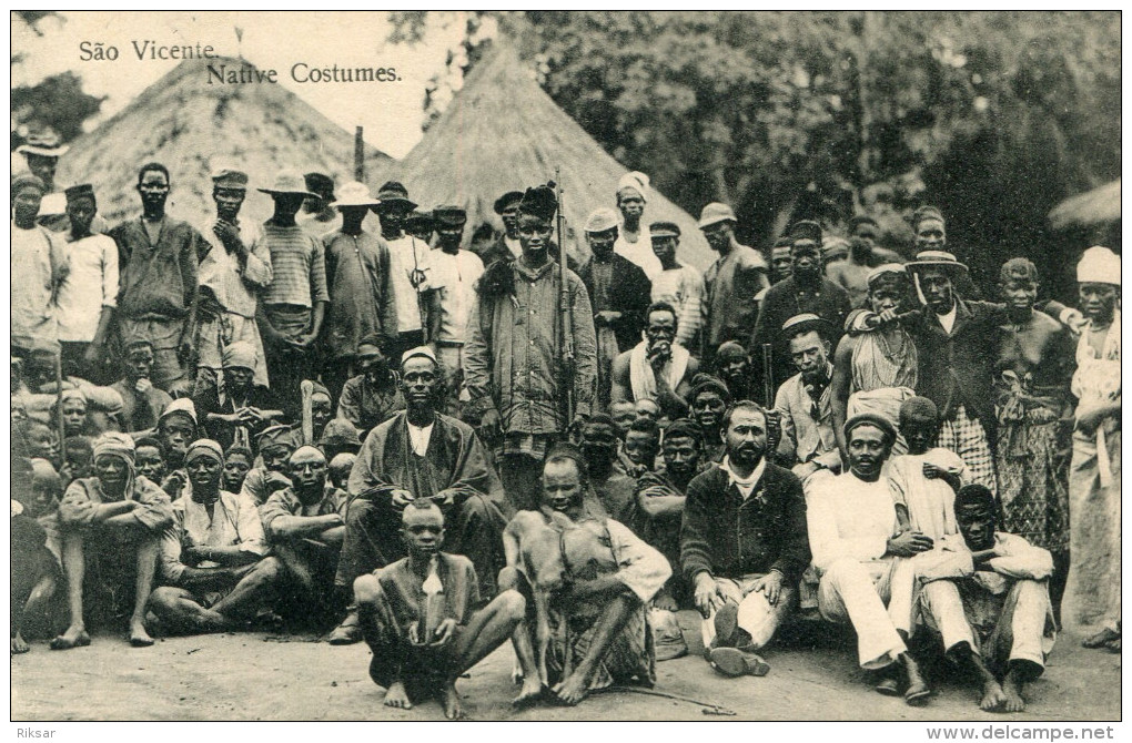
[{"label": "bare earth ground in the foreground below the group", "polygon": [[[767,676],[724,679],[703,658],[698,617],[681,612],[692,655],[658,664],[659,692],[719,705],[736,717],[705,715],[697,703],[628,692],[591,697],[575,708],[540,706],[514,711],[513,654],[500,648],[457,683],[472,719],[490,720],[1116,720],[1121,656],[1080,647],[1083,631],[1057,639],[1045,675],[1029,685],[1020,715],[983,712],[975,692],[955,681],[933,683],[931,703],[908,707],[876,694],[855,664],[847,639],[812,625],[797,640],[765,654]],[[436,720],[436,702],[412,710],[381,705],[385,691],[368,675],[365,643],[332,647],[312,637],[264,633],[158,640],[132,649],[117,637],[88,648],[51,651],[44,642],[11,658],[12,720]],[[851,641],[850,641],[851,642]],[[97,699],[95,703],[93,698]]]}]

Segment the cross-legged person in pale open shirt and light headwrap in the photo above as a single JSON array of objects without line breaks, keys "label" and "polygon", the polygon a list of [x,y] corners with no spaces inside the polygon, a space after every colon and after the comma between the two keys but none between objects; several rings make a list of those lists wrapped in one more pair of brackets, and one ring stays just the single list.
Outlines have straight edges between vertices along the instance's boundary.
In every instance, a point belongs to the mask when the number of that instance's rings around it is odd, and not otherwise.
[{"label": "cross-legged person in pale open shirt and light headwrap", "polygon": [[264,556],[256,504],[222,490],[223,458],[208,439],[185,455],[192,493],[173,502],[173,522],[161,537],[161,585],[149,596],[149,611],[168,632],[237,629],[269,604],[283,574],[278,559]]}]

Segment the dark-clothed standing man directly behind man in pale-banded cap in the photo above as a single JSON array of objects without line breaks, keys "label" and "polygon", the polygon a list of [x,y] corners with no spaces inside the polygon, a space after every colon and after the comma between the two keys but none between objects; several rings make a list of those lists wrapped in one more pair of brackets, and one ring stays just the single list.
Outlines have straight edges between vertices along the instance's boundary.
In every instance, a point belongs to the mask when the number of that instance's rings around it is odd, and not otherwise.
[{"label": "dark-clothed standing man directly behind man in pale-banded cap", "polygon": [[832,327],[830,343],[835,344],[850,309],[846,291],[822,276],[822,227],[816,222],[801,221],[790,228],[790,236],[794,273],[766,291],[749,345],[752,353],[760,353],[763,344],[771,345],[771,379],[775,389],[794,373],[782,325],[796,314],[816,314]]}]

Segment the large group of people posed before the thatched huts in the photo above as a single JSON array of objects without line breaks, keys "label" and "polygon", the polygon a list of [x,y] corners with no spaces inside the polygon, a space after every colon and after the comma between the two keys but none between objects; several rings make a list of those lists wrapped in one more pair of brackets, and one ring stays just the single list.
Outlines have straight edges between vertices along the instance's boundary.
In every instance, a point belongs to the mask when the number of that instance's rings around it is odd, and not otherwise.
[{"label": "large group of people posed before the thatched huts", "polygon": [[1074,309],[1023,258],[975,286],[935,207],[908,251],[867,215],[763,251],[715,202],[701,274],[641,173],[575,256],[548,185],[472,251],[464,209],[397,182],[284,170],[255,224],[228,164],[209,224],[166,213],[153,162],[111,226],[94,185],[57,192],[65,148],[20,152],[12,654],[302,628],[368,643],[386,705],[458,717],[507,642],[516,706],[653,685],[680,610],[728,676],[791,622],[851,628],[909,705],[935,655],[1021,710],[1066,596],[1120,651],[1112,250]]}]

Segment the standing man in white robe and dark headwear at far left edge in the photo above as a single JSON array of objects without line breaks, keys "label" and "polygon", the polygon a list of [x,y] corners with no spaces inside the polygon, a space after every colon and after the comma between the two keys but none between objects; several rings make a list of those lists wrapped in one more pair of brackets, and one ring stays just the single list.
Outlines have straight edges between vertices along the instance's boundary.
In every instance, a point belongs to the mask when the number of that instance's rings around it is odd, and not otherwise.
[{"label": "standing man in white robe and dark headwear at far left edge", "polygon": [[36,343],[58,343],[55,299],[70,271],[62,240],[35,223],[43,193],[34,175],[12,179],[11,347],[18,356],[29,355]]}]

